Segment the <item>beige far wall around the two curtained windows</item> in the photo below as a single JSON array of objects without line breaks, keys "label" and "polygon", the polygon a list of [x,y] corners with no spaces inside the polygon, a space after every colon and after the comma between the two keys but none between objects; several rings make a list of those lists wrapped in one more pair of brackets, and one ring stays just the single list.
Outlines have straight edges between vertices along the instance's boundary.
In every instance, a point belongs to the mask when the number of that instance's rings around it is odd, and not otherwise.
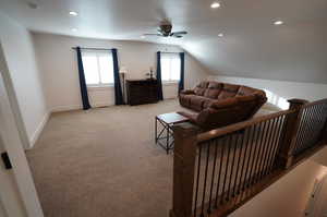
[{"label": "beige far wall around the two curtained windows", "polygon": [[[72,47],[117,48],[120,65],[129,70],[128,79],[144,79],[149,68],[156,69],[157,51],[183,51],[178,46],[141,41],[117,41],[77,38],[51,34],[33,34],[37,59],[46,86],[48,109],[52,111],[81,108],[80,84],[75,51]],[[206,79],[202,65],[185,55],[185,87]],[[177,96],[177,84],[164,85],[165,98]],[[113,88],[89,89],[93,105],[113,105]]]}]

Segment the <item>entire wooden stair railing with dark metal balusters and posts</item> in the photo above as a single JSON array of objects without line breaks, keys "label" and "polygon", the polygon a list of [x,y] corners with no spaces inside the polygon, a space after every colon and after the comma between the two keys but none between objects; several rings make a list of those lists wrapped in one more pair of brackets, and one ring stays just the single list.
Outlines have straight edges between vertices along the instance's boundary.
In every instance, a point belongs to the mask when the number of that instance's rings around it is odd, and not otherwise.
[{"label": "entire wooden stair railing with dark metal balusters and posts", "polygon": [[226,216],[327,142],[327,99],[202,132],[173,126],[170,217]]}]

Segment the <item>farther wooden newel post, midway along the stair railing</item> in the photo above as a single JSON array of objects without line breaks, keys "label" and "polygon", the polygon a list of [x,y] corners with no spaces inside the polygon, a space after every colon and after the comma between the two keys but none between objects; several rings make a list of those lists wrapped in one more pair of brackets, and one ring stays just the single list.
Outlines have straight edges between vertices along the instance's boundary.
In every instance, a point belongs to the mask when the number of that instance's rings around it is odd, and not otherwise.
[{"label": "farther wooden newel post, midway along the stair railing", "polygon": [[281,148],[278,154],[278,164],[283,169],[288,169],[293,161],[293,149],[295,148],[296,143],[296,133],[299,131],[300,121],[302,117],[302,107],[307,104],[304,99],[290,99],[290,110],[295,112],[287,116],[284,128],[283,128],[283,137],[281,141]]}]

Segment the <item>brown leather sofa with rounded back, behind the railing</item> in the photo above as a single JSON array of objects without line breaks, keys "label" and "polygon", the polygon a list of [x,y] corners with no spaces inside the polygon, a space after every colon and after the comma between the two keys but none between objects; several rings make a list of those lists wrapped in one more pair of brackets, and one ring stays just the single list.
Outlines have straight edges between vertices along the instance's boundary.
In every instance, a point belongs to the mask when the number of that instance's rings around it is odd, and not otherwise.
[{"label": "brown leather sofa with rounded back, behind the railing", "polygon": [[267,101],[261,89],[218,82],[202,82],[194,89],[182,91],[181,106],[197,111],[180,112],[191,122],[211,130],[252,118]]}]

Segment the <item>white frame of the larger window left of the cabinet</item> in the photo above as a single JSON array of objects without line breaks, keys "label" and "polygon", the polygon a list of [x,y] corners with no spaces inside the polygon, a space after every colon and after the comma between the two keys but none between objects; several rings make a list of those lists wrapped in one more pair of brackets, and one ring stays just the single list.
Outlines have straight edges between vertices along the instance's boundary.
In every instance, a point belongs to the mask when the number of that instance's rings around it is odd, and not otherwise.
[{"label": "white frame of the larger window left of the cabinet", "polygon": [[[109,57],[112,59],[112,52],[109,51],[109,50],[83,50],[82,51],[82,62],[83,62],[83,56],[85,53],[92,53],[92,55],[95,55],[96,57],[96,60],[97,60],[97,73],[98,73],[98,77],[99,77],[99,83],[97,84],[87,84],[87,81],[85,80],[85,83],[86,83],[86,87],[87,88],[106,88],[106,87],[112,87],[114,86],[114,77],[113,77],[113,82],[112,83],[102,83],[101,81],[101,69],[100,69],[100,60],[99,60],[99,57],[102,55],[102,53],[107,53],[109,55]],[[84,65],[83,65],[84,68]],[[84,69],[84,73],[85,73],[85,69]],[[112,59],[112,74],[113,74],[113,59]]]}]

